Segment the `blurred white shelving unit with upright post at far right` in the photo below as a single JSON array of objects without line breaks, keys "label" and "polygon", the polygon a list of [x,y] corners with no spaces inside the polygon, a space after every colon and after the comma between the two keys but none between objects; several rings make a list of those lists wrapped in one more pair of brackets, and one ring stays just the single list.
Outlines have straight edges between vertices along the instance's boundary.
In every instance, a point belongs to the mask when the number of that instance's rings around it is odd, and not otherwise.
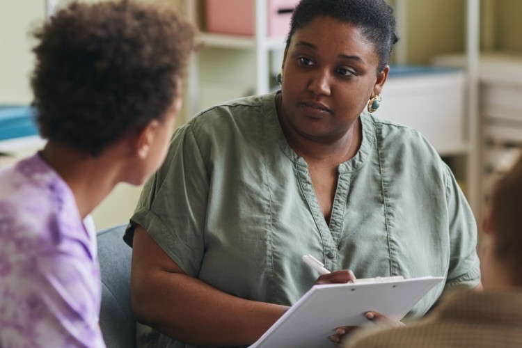
[{"label": "blurred white shelving unit with upright post at far right", "polygon": [[[477,149],[473,167],[473,173],[476,173],[475,216],[480,222],[494,182],[522,152],[522,108],[519,106],[522,98],[522,54],[513,47],[496,47],[495,40],[502,35],[497,33],[500,23],[496,20],[503,21],[504,25],[507,23],[504,17],[498,16],[498,10],[502,6],[512,10],[509,1],[468,0],[470,5],[473,10],[468,13],[468,37],[473,37],[475,46],[468,46],[466,56],[445,54],[436,57],[435,63],[466,67],[468,70],[468,113],[475,122],[473,145]],[[480,8],[483,11],[482,26],[479,26],[478,20]],[[470,17],[472,14],[473,17]],[[519,25],[508,23],[510,30],[512,26]],[[516,32],[516,29],[512,31]],[[478,44],[480,33],[483,35],[482,52]]]}]

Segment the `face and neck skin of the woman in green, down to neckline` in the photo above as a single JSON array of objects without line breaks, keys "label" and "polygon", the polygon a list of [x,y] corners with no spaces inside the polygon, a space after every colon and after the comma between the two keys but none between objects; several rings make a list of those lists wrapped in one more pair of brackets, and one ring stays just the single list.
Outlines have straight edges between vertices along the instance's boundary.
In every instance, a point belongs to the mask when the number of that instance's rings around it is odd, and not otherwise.
[{"label": "face and neck skin of the woman in green, down to neckline", "polygon": [[[328,40],[324,40],[328,38]],[[308,164],[324,218],[330,220],[339,164],[361,145],[359,115],[381,93],[374,45],[351,24],[316,17],[285,49],[278,115],[286,139]]]}]

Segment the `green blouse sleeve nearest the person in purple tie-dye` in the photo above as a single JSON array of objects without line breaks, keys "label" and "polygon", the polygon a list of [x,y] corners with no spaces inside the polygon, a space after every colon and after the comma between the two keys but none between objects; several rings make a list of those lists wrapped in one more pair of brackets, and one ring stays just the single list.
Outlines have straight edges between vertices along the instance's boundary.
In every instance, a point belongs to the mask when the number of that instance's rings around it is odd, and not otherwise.
[{"label": "green blouse sleeve nearest the person in purple tie-dye", "polygon": [[184,125],[175,132],[163,166],[145,184],[125,240],[132,245],[134,226],[143,226],[185,273],[197,277],[205,249],[208,191],[205,161],[191,124]]}]

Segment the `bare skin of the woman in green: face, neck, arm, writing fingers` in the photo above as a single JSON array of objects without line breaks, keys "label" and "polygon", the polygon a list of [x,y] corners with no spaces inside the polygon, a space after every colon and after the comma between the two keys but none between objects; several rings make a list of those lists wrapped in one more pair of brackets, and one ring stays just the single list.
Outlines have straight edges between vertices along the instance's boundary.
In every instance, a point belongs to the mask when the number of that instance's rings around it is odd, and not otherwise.
[{"label": "bare skin of the woman in green: face, neck, arm, writing fingers", "polygon": [[[290,146],[308,163],[327,221],[337,167],[361,143],[358,116],[386,81],[388,67],[378,74],[377,63],[374,47],[358,29],[330,17],[296,31],[285,49],[278,116]],[[351,271],[335,271],[316,284],[354,278]],[[187,276],[141,226],[134,232],[131,283],[138,321],[193,345],[250,345],[287,310]]]}]

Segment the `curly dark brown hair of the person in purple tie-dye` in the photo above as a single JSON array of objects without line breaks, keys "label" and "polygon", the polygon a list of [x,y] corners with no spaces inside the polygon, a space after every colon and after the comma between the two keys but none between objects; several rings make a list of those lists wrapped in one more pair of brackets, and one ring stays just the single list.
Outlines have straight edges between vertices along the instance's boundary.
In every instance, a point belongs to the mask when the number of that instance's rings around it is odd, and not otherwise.
[{"label": "curly dark brown hair of the person in purple tie-dye", "polygon": [[93,157],[139,132],[180,95],[193,26],[135,1],[70,3],[33,31],[42,137]]}]

